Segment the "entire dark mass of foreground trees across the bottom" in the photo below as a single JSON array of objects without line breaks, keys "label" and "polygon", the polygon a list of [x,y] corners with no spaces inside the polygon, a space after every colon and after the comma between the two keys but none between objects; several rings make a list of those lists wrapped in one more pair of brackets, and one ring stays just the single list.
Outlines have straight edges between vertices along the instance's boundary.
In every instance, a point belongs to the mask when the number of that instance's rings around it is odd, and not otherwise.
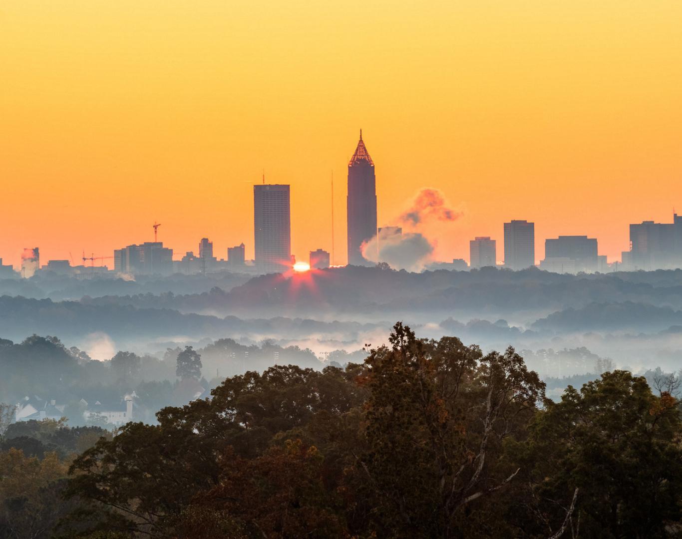
[{"label": "entire dark mass of foreground trees across the bottom", "polygon": [[227,378],[75,459],[47,449],[85,433],[26,427],[45,448],[0,453],[0,538],[679,536],[676,375],[606,371],[552,402],[512,348],[400,323],[389,342]]}]

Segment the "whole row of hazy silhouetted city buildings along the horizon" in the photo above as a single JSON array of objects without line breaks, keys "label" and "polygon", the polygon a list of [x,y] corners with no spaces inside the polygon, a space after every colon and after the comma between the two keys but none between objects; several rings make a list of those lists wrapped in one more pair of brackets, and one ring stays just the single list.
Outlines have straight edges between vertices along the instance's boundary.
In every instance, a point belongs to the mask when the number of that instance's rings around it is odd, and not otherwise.
[{"label": "whole row of hazy silhouetted city buildings along the horizon", "polygon": [[[394,225],[378,226],[377,213],[378,206],[376,196],[376,177],[374,174],[374,161],[370,157],[368,150],[362,138],[362,129],[360,129],[359,142],[353,153],[353,157],[348,164],[348,189],[349,193],[346,196],[346,219],[348,227],[346,228],[347,235],[347,253],[349,265],[367,265],[371,264],[370,260],[364,258],[364,245],[370,242],[372,238],[379,241],[379,236],[384,230],[387,233],[397,233],[402,236],[402,228]],[[332,192],[330,197],[333,200],[333,183],[331,185]],[[428,191],[428,188],[424,188]],[[422,190],[424,190],[422,189]],[[261,271],[280,271],[282,268],[286,269],[288,266],[293,266],[296,261],[296,253],[292,252],[291,245],[291,185],[279,183],[265,183],[265,172],[261,178],[261,183],[253,185],[253,213],[252,219],[254,223],[253,238],[254,238],[254,266]],[[430,195],[432,196],[432,195]],[[439,200],[439,203],[443,203]],[[450,212],[451,210],[445,209]],[[404,215],[412,215],[407,213]],[[404,215],[400,219],[404,221]],[[331,217],[331,215],[329,216]],[[458,217],[449,217],[447,221],[456,220]],[[394,219],[394,220],[395,220]],[[421,217],[417,219],[407,219],[419,223]],[[393,221],[391,221],[393,222]],[[414,223],[413,223],[414,224]],[[87,257],[85,250],[83,251],[82,261],[83,267],[86,267],[87,261],[91,262],[91,267],[95,267],[95,260],[100,261],[100,268],[106,268],[104,260],[113,258],[115,260],[113,266],[115,271],[122,271],[123,273],[135,273],[136,271],[143,271],[144,273],[153,273],[151,269],[159,262],[153,262],[158,256],[162,256],[161,263],[164,267],[162,273],[172,272],[172,262],[189,262],[196,264],[196,261],[201,262],[201,268],[206,271],[206,262],[217,262],[218,257],[213,256],[213,242],[209,238],[203,237],[198,245],[198,256],[194,251],[186,251],[186,254],[181,259],[178,257],[179,251],[173,251],[173,248],[164,247],[163,242],[158,240],[158,228],[161,224],[154,221],[152,225],[154,241],[145,242],[142,245],[128,245],[122,249],[114,249],[113,256],[103,256],[98,253],[91,253]],[[678,217],[677,213],[673,213],[673,222],[657,223],[653,220],[644,220],[641,224],[629,224],[629,246],[625,251],[621,251],[621,257],[617,260],[617,264],[623,264],[623,268],[640,268],[640,269],[655,269],[655,268],[670,268],[678,267],[682,264],[682,217]],[[375,234],[372,234],[372,231]],[[644,234],[644,235],[642,235]],[[331,235],[333,227],[331,228]],[[651,238],[649,238],[651,236]],[[537,252],[537,242],[542,242],[544,247],[544,259],[539,258]],[[332,245],[332,251],[323,251],[321,247],[317,247],[316,251],[328,253],[333,256],[334,239],[329,238]],[[571,243],[572,242],[572,243]],[[585,243],[587,242],[587,243]],[[436,247],[437,240],[430,242],[432,247]],[[647,245],[651,245],[647,247]],[[377,243],[379,245],[379,243]],[[538,238],[535,235],[535,222],[527,219],[511,219],[509,222],[503,224],[503,256],[502,259],[496,260],[496,240],[490,236],[475,236],[469,241],[469,257],[456,258],[453,257],[448,260],[442,260],[432,256],[428,262],[434,264],[449,264],[449,260],[453,263],[462,262],[466,260],[471,268],[480,268],[486,265],[494,264],[512,270],[518,271],[531,266],[539,266],[541,269],[547,271],[554,271],[557,273],[575,273],[576,271],[604,271],[607,267],[608,256],[597,252],[597,238],[588,240],[586,235],[575,234],[559,234],[558,239],[552,238]],[[552,253],[548,247],[555,245],[555,249],[564,249],[561,253],[576,253],[575,259],[565,254]],[[559,247],[563,245],[563,247]],[[35,270],[40,268],[38,264],[38,247],[23,248],[20,255],[20,267],[16,268],[21,275],[33,275]],[[150,249],[160,249],[160,251],[152,251]],[[239,253],[237,253],[237,250]],[[480,249],[484,249],[483,254]],[[582,254],[578,254],[578,251]],[[587,249],[587,251],[585,250]],[[601,248],[599,249],[601,250]],[[148,252],[147,252],[148,251]],[[227,256],[221,259],[223,262],[228,262],[229,253],[233,251],[236,258],[242,262],[246,258],[246,246],[241,242],[238,247],[228,247],[226,250]],[[632,252],[629,252],[632,251]],[[638,252],[636,252],[638,251]],[[314,251],[309,251],[310,255]],[[586,253],[590,253],[586,255]],[[160,254],[163,253],[163,254]],[[598,255],[598,256],[597,256]],[[377,251],[379,256],[379,251]],[[481,258],[481,256],[483,258]],[[587,256],[587,259],[584,258]],[[173,258],[175,257],[175,258]],[[35,259],[35,263],[31,260]],[[589,259],[589,260],[588,260]],[[0,262],[7,260],[5,257],[0,258]],[[29,262],[27,262],[29,260]],[[45,260],[45,259],[44,259]],[[145,262],[146,260],[146,262]],[[303,262],[303,257],[299,258],[299,262]],[[485,262],[483,262],[485,260]],[[586,262],[587,260],[587,262]],[[599,262],[597,262],[599,260]],[[662,261],[661,263],[657,262]],[[69,258],[59,259],[50,258],[48,262],[63,264],[70,262],[73,267],[74,258],[72,252],[69,252]],[[381,260],[380,260],[381,261]],[[585,264],[587,263],[587,266]],[[307,263],[306,263],[307,264]],[[314,267],[316,264],[310,264]],[[338,264],[340,266],[344,264]],[[49,268],[50,264],[45,267]],[[9,266],[5,266],[9,267]],[[198,267],[198,266],[197,266]],[[329,267],[327,261],[326,267]],[[454,267],[454,266],[453,266]],[[59,266],[61,271],[61,266]],[[578,268],[578,269],[576,269]]]}]

